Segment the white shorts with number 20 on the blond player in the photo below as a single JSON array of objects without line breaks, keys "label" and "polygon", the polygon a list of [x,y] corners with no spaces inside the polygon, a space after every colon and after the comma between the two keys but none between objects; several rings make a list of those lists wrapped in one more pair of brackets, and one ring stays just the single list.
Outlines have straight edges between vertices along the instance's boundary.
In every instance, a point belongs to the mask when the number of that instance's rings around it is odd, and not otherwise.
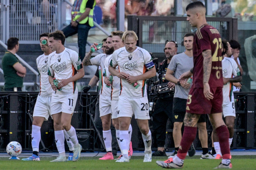
[{"label": "white shorts with number 20 on the blond player", "polygon": [[135,119],[150,119],[148,113],[148,98],[126,98],[119,96],[117,117],[132,117]]}]

